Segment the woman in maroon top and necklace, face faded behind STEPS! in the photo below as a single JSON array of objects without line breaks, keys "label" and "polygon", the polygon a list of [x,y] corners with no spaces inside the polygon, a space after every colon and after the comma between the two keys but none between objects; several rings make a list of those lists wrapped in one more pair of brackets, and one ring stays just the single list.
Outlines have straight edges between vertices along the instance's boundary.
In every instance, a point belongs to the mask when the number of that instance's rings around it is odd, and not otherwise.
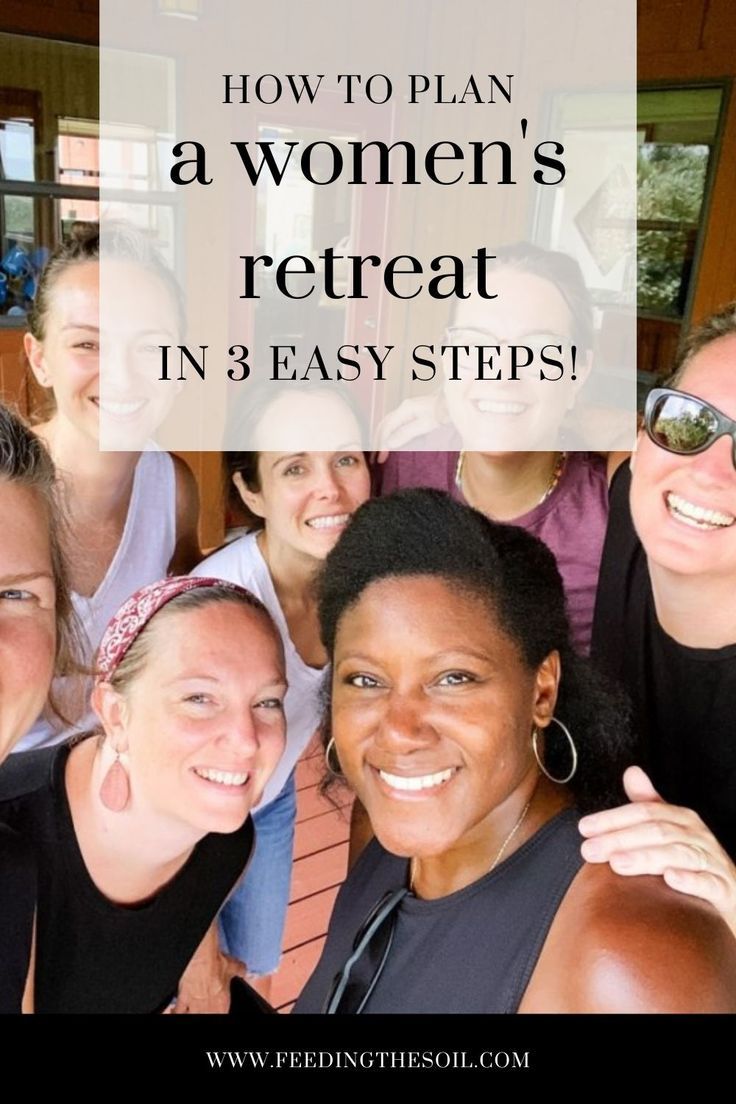
[{"label": "woman in maroon top and necklace, face faded behind STEPS!", "polygon": [[446,426],[407,445],[462,452],[394,452],[380,466],[376,487],[378,493],[436,487],[495,521],[540,537],[557,559],[574,643],[587,654],[608,516],[606,463],[595,453],[578,452],[579,443],[569,435],[563,443],[562,433],[557,444],[570,450],[518,452],[550,447],[550,433],[563,422],[575,386],[564,380],[541,384],[536,368],[536,382],[525,372],[515,382],[478,382],[465,347],[515,343],[541,351],[550,343],[574,343],[579,385],[591,364],[593,307],[573,258],[523,242],[497,254],[499,298],[489,302],[471,296],[459,302],[446,336],[459,353],[458,376],[445,384],[451,436]]}]

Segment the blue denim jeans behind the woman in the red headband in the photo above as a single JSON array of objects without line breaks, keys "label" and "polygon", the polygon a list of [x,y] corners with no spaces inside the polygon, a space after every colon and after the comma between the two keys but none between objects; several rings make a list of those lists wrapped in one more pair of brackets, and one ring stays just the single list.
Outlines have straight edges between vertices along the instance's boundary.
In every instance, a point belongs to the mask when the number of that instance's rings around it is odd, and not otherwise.
[{"label": "blue denim jeans behind the woman in the red headband", "polygon": [[297,787],[294,772],[284,789],[253,814],[256,847],[245,878],[220,913],[223,949],[249,974],[274,974],[281,957],[289,903]]}]

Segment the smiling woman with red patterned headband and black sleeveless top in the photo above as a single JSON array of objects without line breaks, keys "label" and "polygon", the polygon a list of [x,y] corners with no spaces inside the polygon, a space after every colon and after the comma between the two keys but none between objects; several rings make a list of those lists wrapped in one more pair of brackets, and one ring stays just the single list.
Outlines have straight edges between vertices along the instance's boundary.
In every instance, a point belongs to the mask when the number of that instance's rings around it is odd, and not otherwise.
[{"label": "smiling woman with red patterned headband and black sleeveless top", "polygon": [[0,821],[39,861],[36,1010],[168,1006],[249,857],[285,692],[279,635],[242,587],[173,576],[120,608],[99,737],[0,771]]}]

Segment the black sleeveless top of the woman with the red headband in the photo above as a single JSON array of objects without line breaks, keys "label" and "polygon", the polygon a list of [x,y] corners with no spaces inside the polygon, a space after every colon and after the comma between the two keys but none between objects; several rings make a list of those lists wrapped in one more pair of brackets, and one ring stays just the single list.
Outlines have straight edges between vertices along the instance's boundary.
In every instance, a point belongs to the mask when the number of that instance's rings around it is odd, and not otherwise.
[{"label": "black sleeveless top of the woman with the red headband", "polygon": [[11,755],[0,768],[0,821],[34,845],[39,867],[35,1011],[156,1012],[175,995],[253,848],[248,817],[211,832],[156,896],[124,906],[99,892],[74,834],[68,746]]}]

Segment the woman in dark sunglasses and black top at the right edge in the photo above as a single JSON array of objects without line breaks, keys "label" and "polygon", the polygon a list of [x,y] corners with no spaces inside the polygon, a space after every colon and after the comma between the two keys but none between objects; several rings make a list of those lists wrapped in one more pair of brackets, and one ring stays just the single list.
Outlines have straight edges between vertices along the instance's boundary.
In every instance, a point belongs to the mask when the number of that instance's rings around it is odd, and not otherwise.
[{"label": "woman in dark sunglasses and black top at the right edge", "polygon": [[631,775],[638,799],[582,827],[596,837],[587,859],[663,874],[736,933],[735,381],[730,304],[692,332],[669,385],[650,394],[631,469],[611,485],[593,656],[633,700],[661,797]]}]

